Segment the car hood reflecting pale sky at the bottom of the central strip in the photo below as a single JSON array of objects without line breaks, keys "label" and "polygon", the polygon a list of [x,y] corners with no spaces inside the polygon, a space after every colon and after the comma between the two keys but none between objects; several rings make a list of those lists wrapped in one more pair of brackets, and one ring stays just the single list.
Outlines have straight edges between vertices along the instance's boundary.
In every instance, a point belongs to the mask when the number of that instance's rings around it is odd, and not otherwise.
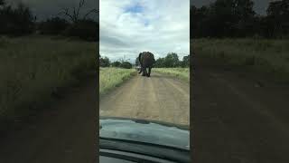
[{"label": "car hood reflecting pale sky at the bottom of the central strip", "polygon": [[188,126],[155,120],[102,117],[99,129],[100,139],[122,139],[190,150]]}]

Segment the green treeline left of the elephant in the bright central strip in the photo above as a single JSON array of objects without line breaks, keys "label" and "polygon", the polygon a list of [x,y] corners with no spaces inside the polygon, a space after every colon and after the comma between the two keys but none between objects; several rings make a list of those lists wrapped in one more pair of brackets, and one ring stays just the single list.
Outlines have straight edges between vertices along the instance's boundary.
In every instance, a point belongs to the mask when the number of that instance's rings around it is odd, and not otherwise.
[{"label": "green treeline left of the elephant in the bright central strip", "polygon": [[99,54],[99,66],[100,67],[119,67],[124,69],[131,69],[133,68],[133,64],[130,62],[126,62],[124,60],[110,62],[107,57],[102,57]]}]

